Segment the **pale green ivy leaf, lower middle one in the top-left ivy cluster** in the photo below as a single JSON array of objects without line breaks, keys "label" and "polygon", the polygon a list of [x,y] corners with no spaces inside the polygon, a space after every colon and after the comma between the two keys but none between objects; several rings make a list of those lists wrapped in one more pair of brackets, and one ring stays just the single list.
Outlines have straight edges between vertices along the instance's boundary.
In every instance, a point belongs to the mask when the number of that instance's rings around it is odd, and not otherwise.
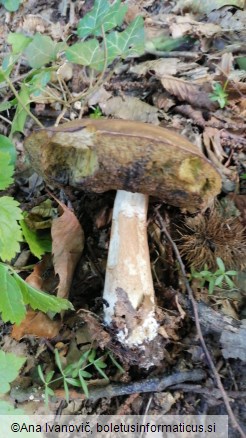
[{"label": "pale green ivy leaf, lower middle one in the top-left ivy cluster", "polygon": [[79,65],[91,65],[95,62],[99,53],[99,43],[91,39],[84,43],[75,43],[65,51],[68,61]]}]

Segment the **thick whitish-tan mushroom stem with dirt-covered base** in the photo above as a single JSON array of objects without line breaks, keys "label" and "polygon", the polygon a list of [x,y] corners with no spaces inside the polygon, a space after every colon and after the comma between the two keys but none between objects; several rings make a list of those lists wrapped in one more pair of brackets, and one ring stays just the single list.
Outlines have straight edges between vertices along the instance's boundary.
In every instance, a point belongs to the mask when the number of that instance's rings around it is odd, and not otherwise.
[{"label": "thick whitish-tan mushroom stem with dirt-covered base", "polygon": [[147,237],[148,196],[119,190],[113,209],[103,298],[105,323],[122,344],[140,346],[157,335]]}]

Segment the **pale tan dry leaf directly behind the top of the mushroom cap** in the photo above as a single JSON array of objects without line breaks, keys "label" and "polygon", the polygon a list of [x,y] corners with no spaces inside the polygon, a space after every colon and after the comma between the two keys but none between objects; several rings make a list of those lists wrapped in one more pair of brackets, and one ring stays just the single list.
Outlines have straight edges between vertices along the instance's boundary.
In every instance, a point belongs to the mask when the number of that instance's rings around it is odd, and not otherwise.
[{"label": "pale tan dry leaf directly behind the top of the mushroom cap", "polygon": [[142,102],[137,97],[112,97],[112,99],[99,105],[107,116],[111,115],[123,120],[136,120],[159,125],[158,109]]}]

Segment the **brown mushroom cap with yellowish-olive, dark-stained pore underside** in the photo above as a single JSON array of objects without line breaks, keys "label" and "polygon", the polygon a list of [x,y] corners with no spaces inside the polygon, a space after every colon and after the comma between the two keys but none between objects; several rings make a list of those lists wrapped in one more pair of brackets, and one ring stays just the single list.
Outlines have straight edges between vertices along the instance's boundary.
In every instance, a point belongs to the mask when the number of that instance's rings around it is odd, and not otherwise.
[{"label": "brown mushroom cap with yellowish-olive, dark-stained pore underside", "polygon": [[145,123],[76,120],[32,133],[25,149],[51,184],[139,192],[191,211],[221,190],[219,173],[196,146]]}]

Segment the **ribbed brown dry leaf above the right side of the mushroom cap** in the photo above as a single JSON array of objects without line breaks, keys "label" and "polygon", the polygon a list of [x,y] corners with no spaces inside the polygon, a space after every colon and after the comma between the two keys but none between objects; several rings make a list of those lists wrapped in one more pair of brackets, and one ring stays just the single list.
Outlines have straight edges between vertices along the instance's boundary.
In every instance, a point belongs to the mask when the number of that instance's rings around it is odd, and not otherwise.
[{"label": "ribbed brown dry leaf above the right side of the mushroom cap", "polygon": [[194,107],[208,110],[213,110],[217,107],[217,104],[209,98],[209,93],[205,92],[199,85],[167,75],[162,76],[160,80],[163,87],[181,101],[189,102]]}]

